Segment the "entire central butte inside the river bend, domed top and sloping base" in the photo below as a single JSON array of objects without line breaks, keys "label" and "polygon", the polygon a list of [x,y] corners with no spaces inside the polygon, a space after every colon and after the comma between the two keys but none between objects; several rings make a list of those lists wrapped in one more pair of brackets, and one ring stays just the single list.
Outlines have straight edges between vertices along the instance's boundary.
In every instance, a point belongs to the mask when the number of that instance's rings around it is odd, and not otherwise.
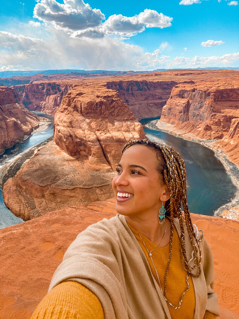
[{"label": "entire central butte inside the river bend, domed top and sloping base", "polygon": [[116,91],[76,86],[54,118],[54,142],[40,148],[3,187],[6,206],[24,220],[113,196],[113,170],[141,124]]}]

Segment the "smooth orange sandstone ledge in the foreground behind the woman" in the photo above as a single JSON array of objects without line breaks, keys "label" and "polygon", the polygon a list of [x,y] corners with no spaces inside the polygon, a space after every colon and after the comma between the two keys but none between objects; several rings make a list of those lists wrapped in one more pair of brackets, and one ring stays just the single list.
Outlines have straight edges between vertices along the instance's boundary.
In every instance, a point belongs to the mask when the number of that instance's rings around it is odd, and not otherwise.
[{"label": "smooth orange sandstone ledge in the foreground behind the woman", "polygon": [[[0,318],[28,319],[46,295],[52,275],[76,235],[115,215],[114,200],[54,211],[0,230]],[[239,223],[192,214],[214,256],[214,290],[221,319],[239,317]]]}]

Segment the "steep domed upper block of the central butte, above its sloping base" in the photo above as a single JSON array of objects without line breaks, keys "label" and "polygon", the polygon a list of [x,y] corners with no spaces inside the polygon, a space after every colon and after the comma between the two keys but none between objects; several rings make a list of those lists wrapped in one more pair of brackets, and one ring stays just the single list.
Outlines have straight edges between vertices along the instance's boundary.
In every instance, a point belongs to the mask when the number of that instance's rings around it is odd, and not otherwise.
[{"label": "steep domed upper block of the central butte, above its sloping base", "polygon": [[145,137],[141,124],[115,91],[79,86],[54,118],[54,141],[67,154],[88,159],[88,169],[110,172],[127,140]]}]

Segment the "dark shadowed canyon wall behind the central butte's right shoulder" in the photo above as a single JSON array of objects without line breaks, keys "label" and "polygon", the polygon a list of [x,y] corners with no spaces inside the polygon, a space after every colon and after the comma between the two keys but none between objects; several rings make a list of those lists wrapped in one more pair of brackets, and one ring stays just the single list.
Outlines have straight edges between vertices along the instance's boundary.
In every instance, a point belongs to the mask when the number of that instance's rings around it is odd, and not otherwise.
[{"label": "dark shadowed canyon wall behind the central butte's right shoulder", "polygon": [[137,119],[156,117],[170,97],[175,81],[121,80],[107,82],[107,88],[119,92]]}]

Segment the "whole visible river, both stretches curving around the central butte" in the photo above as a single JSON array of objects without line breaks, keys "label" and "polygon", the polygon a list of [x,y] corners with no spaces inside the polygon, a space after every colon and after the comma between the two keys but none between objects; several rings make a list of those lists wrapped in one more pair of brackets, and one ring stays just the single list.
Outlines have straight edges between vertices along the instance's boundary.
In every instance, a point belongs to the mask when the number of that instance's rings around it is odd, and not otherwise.
[{"label": "whole visible river, both stretches curving around the central butte", "polygon": [[[52,119],[49,115],[34,112],[40,116]],[[159,119],[142,119],[141,124]],[[163,140],[167,145],[178,151],[185,160],[187,171],[187,195],[189,210],[203,215],[214,215],[223,204],[235,197],[237,188],[227,174],[222,163],[214,156],[214,152],[198,143],[175,137],[165,132],[151,130],[144,127],[145,134],[152,135]],[[7,149],[0,156],[0,168],[6,162],[13,160],[20,153],[37,145],[53,135],[53,122],[46,131],[36,132],[22,143]],[[8,210],[3,202],[2,190],[0,189],[0,228],[19,224],[22,219],[16,217]]]}]

